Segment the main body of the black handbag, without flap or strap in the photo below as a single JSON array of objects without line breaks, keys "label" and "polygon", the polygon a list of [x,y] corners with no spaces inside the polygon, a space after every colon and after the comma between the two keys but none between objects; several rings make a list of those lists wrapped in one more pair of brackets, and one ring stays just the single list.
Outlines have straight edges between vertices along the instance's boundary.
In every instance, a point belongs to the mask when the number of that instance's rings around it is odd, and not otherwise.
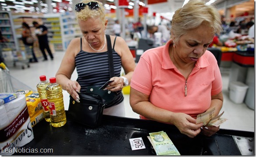
[{"label": "main body of the black handbag, without flap or strap", "polygon": [[78,123],[89,127],[99,126],[101,123],[105,100],[97,94],[79,93],[80,103],[70,97],[68,114],[69,117]]}]

